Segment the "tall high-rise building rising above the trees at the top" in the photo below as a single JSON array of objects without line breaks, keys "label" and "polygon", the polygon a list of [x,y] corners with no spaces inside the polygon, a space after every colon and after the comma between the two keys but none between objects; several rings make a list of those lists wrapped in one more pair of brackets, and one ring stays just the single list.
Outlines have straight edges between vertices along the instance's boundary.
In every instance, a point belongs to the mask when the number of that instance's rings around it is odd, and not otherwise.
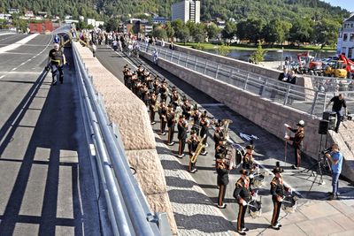
[{"label": "tall high-rise building rising above the trees at the top", "polygon": [[171,6],[172,20],[200,22],[200,1],[184,0]]}]

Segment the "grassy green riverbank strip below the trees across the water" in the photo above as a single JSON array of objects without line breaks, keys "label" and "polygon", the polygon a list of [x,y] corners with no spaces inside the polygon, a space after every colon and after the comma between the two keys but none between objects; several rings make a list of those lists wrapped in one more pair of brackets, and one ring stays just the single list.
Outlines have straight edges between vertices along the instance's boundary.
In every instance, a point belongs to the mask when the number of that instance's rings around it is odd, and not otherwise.
[{"label": "grassy green riverbank strip below the trees across the water", "polygon": [[[218,49],[221,45],[219,44],[213,44],[210,42],[203,42],[203,43],[196,43],[196,42],[187,42],[186,45],[184,45],[183,42],[175,42],[177,45],[185,46],[185,47],[191,47],[194,49],[205,49],[205,50],[210,50],[210,49]],[[249,45],[249,44],[238,44],[238,45],[232,45],[229,46],[231,50],[255,50],[257,49],[257,45]],[[309,45],[309,46],[290,46],[290,45],[274,45],[274,46],[267,46],[263,45],[263,49],[265,50],[287,50],[287,51],[304,51],[304,50],[310,50],[310,51],[321,51],[321,52],[335,52],[335,49],[330,48],[330,47],[324,47],[323,49],[320,49],[320,46],[315,46],[315,45]]]}]

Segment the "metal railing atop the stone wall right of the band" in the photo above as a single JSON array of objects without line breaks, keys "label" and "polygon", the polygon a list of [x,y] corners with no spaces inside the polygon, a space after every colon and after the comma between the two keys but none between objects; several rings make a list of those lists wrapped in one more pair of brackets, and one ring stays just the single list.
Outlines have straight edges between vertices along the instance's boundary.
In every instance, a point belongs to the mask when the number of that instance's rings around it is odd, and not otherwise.
[{"label": "metal railing atop the stone wall right of the band", "polygon": [[[247,72],[228,65],[222,65],[211,60],[192,56],[187,53],[166,49],[159,46],[141,43],[141,50],[149,54],[158,50],[158,57],[173,64],[188,68],[189,70],[199,72],[214,80],[220,80],[237,88],[246,90],[252,94],[259,95],[275,103],[281,103],[296,110],[302,110],[310,115],[322,117],[326,110],[326,104],[336,91],[320,91],[319,89],[304,88],[282,82],[278,78],[269,78],[254,72]],[[348,94],[347,103],[354,103],[352,98],[354,92],[345,91],[342,94]],[[348,99],[348,97],[350,99]],[[353,103],[351,103],[353,102]]]}]

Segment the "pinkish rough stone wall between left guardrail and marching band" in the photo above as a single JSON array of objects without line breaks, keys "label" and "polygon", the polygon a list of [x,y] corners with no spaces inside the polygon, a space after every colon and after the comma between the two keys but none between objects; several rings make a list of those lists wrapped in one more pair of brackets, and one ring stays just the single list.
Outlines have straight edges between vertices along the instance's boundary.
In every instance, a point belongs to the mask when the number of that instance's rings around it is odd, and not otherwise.
[{"label": "pinkish rough stone wall between left guardrail and marching band", "polygon": [[93,77],[96,91],[103,96],[109,119],[119,125],[126,156],[136,170],[135,178],[150,204],[150,210],[166,212],[171,230],[177,235],[164,170],[158,158],[145,104],[106,70],[96,57],[92,57],[88,48],[82,48],[78,42],[73,43],[76,43],[82,61]]}]

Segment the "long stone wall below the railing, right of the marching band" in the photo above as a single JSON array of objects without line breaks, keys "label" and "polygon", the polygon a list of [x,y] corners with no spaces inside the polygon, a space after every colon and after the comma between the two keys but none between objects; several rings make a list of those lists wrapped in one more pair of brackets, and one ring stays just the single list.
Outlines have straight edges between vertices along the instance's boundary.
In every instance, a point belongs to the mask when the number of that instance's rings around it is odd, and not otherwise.
[{"label": "long stone wall below the railing, right of the marching band", "polygon": [[[152,61],[152,57],[145,53],[141,53],[142,57],[146,57]],[[250,94],[241,88],[236,88],[225,82],[214,80],[199,72],[191,71],[187,68],[175,65],[164,59],[158,59],[158,65],[166,71],[173,73],[175,76],[188,82],[195,88],[204,91],[207,95],[224,103],[232,110],[241,114],[244,118],[249,119],[258,126],[262,126],[269,133],[273,133],[277,137],[283,139],[284,126],[287,123],[295,126],[296,123],[303,119],[305,127],[304,138],[304,152],[314,158],[318,158],[319,154],[319,119],[312,118],[307,113],[295,110],[280,103],[273,103],[272,101],[262,98],[259,95]],[[353,125],[354,126],[354,125]],[[352,152],[344,141],[341,142],[338,134],[332,131],[328,135],[328,141],[337,141],[342,147],[342,153],[345,155],[347,162],[343,164],[342,174],[350,180],[354,180],[354,162],[352,160]]]}]

